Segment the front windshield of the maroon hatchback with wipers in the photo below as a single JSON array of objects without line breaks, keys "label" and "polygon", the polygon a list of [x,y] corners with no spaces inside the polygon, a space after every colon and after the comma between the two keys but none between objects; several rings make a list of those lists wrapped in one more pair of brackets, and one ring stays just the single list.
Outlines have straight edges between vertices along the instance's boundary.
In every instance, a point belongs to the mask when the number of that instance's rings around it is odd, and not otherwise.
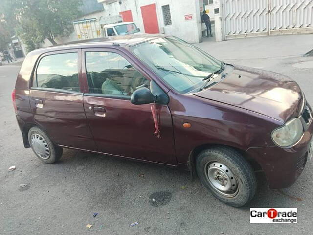
[{"label": "front windshield of the maroon hatchback with wipers", "polygon": [[153,39],[132,47],[134,54],[179,93],[201,88],[222,62],[176,37]]}]

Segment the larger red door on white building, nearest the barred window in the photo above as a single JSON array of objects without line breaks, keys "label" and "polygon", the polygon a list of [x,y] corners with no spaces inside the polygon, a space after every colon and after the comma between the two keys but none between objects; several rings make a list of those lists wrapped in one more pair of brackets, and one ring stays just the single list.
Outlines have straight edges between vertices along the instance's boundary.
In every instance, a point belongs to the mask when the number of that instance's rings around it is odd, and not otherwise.
[{"label": "larger red door on white building, nearest the barred window", "polygon": [[141,14],[146,33],[159,33],[156,4],[142,6]]}]

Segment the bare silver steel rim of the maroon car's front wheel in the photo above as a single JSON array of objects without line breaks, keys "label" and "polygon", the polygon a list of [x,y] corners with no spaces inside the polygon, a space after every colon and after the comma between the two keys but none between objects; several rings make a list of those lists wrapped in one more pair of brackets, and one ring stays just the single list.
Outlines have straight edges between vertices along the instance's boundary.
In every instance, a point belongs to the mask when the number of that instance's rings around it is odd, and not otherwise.
[{"label": "bare silver steel rim of the maroon car's front wheel", "polygon": [[239,191],[237,177],[225,165],[219,162],[210,162],[205,165],[205,175],[211,188],[225,197],[234,197]]}]

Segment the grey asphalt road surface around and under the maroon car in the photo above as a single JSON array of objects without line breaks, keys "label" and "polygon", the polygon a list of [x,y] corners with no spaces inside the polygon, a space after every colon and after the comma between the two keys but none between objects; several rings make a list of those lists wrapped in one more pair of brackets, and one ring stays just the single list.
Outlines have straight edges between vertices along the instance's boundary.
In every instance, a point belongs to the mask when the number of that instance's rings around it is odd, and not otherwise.
[{"label": "grey asphalt road surface around and under the maroon car", "polygon": [[[291,76],[313,104],[313,69],[297,64],[310,61],[285,56],[233,62]],[[269,191],[259,174],[257,194],[244,208],[219,202],[184,171],[68,149],[59,163],[42,163],[23,148],[15,120],[11,92],[18,70],[0,67],[1,235],[312,234],[312,162],[293,186],[279,191]],[[16,170],[8,172],[11,165]],[[298,208],[298,223],[250,224],[250,207]],[[138,224],[131,227],[133,222]]]}]

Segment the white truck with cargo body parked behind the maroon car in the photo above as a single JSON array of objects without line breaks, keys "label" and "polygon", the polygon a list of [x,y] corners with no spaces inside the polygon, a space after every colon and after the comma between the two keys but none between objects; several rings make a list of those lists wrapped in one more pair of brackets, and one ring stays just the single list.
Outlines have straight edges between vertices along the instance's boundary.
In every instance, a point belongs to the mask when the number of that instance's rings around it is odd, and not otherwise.
[{"label": "white truck with cargo body parked behind the maroon car", "polygon": [[134,22],[122,22],[121,16],[94,17],[73,22],[78,40],[127,35],[140,32]]}]

